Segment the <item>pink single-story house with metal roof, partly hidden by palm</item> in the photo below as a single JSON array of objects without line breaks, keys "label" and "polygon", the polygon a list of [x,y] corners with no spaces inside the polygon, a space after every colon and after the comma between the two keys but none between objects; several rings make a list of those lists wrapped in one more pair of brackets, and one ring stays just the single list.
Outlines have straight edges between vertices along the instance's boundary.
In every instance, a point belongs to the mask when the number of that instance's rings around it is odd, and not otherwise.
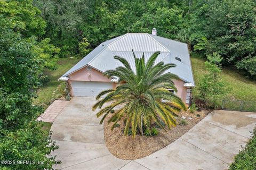
[{"label": "pink single-story house with metal roof, partly hidden by palm", "polygon": [[[190,90],[195,86],[191,70],[187,44],[149,33],[126,33],[125,35],[101,43],[91,53],[62,75],[59,80],[68,81],[71,96],[95,97],[102,90],[116,87],[117,78],[103,76],[106,70],[122,65],[114,59],[115,55],[126,58],[134,69],[132,49],[137,57],[145,53],[147,59],[156,51],[160,51],[156,62],[174,63],[177,66],[169,72],[179,76],[173,80],[179,96],[184,103],[189,104]],[[174,92],[172,89],[170,91]]]}]

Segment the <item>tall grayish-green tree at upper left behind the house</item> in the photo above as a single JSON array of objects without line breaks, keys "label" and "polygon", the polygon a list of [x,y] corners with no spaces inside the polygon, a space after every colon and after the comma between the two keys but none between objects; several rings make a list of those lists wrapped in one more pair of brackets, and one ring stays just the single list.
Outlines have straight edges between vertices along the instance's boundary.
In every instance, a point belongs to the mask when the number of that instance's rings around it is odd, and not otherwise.
[{"label": "tall grayish-green tree at upper left behind the house", "polygon": [[44,37],[61,48],[60,57],[77,54],[78,43],[83,38],[81,27],[93,12],[94,1],[34,0],[33,3],[42,11],[41,16],[47,22]]}]

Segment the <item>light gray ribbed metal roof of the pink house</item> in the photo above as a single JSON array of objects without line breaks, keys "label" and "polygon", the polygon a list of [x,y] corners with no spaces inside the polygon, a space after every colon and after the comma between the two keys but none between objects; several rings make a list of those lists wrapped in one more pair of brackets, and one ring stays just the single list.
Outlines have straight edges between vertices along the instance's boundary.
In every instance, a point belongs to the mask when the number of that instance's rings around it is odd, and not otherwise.
[{"label": "light gray ribbed metal roof of the pink house", "polygon": [[[163,61],[164,63],[176,64],[177,66],[171,68],[169,72],[178,75],[181,80],[195,85],[187,44],[148,33],[126,33],[101,43],[62,77],[68,77],[69,74],[86,65],[90,65],[101,72],[115,69],[122,65],[114,59],[115,55],[126,58],[135,70],[132,49],[137,57],[141,57],[144,52],[146,61],[154,52],[160,51],[161,54],[156,62]],[[179,57],[181,62],[175,57]]]}]

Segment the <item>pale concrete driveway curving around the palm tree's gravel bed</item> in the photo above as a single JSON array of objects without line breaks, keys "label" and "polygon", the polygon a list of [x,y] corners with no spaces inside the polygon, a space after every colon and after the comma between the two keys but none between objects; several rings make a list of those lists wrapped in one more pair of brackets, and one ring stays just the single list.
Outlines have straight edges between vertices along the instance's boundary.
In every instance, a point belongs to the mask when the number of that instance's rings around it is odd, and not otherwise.
[{"label": "pale concrete driveway curving around the palm tree's gravel bed", "polygon": [[74,97],[53,122],[58,169],[227,169],[256,123],[256,113],[214,111],[169,146],[142,159],[122,160],[104,144],[91,111],[95,99]]}]

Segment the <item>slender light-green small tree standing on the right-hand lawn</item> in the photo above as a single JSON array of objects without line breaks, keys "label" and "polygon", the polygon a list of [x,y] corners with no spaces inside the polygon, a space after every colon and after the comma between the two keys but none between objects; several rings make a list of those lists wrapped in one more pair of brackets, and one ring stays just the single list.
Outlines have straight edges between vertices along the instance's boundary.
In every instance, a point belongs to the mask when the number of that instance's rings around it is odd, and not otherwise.
[{"label": "slender light-green small tree standing on the right-hand lawn", "polygon": [[220,77],[222,57],[218,53],[213,53],[207,55],[207,59],[205,67],[209,73],[199,81],[199,95],[207,106],[217,107],[218,102],[226,97],[229,90]]}]

